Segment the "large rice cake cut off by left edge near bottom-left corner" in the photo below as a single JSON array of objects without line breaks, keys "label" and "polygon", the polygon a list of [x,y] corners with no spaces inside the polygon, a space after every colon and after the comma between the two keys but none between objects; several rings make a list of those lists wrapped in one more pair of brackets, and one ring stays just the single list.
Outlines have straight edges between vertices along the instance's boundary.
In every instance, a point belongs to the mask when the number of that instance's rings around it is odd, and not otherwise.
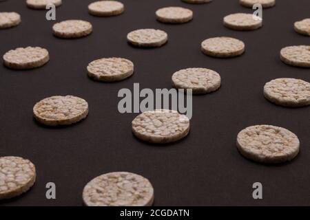
[{"label": "large rice cake cut off by left edge near bottom-left corner", "polygon": [[36,181],[36,168],[28,159],[0,157],[0,199],[17,197]]}]

